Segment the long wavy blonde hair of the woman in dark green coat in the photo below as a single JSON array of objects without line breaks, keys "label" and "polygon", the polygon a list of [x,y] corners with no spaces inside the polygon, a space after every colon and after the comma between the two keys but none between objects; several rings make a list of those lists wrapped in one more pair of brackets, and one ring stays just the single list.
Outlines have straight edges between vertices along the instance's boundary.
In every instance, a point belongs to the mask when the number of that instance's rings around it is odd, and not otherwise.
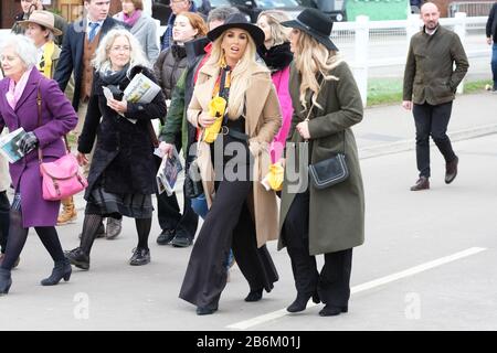
[{"label": "long wavy blonde hair of the woman in dark green coat", "polygon": [[339,81],[338,77],[330,75],[329,72],[342,63],[343,60],[337,51],[328,50],[325,45],[303,31],[299,31],[299,33],[296,52],[294,53],[295,67],[302,74],[299,99],[304,106],[304,110],[306,110],[306,92],[310,89],[314,93],[314,105],[322,109],[316,100],[319,92],[319,83],[316,77],[317,73],[321,73],[326,81]]}]

